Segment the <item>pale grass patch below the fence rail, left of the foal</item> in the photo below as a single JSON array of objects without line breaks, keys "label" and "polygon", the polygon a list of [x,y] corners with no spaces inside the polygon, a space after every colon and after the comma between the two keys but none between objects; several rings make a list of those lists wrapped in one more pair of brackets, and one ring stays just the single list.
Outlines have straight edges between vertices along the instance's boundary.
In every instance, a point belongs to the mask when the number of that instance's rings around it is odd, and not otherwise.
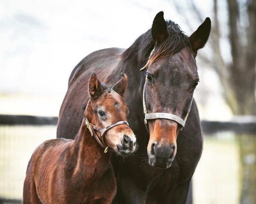
[{"label": "pale grass patch below the fence rail, left of the foal", "polygon": [[22,198],[30,156],[52,138],[56,138],[55,126],[0,126],[0,197]]}]

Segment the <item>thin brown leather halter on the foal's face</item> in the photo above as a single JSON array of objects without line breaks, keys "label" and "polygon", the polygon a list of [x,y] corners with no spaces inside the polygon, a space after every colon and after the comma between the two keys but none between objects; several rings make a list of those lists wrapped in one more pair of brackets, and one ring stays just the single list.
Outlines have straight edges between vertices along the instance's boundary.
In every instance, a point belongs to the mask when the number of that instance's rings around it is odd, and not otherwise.
[{"label": "thin brown leather halter on the foal's face", "polygon": [[[108,152],[108,146],[105,144],[104,142],[104,135],[105,133],[111,129],[112,127],[115,127],[117,125],[127,125],[129,127],[129,124],[128,122],[126,121],[118,121],[118,122],[115,122],[113,123],[112,125],[109,125],[108,127],[104,127],[102,129],[96,127],[95,125],[91,124],[87,118],[85,118],[85,125],[86,127],[88,128],[88,130],[90,131],[91,135],[95,137],[96,141],[99,143],[100,146],[102,146],[105,150],[104,150],[104,153],[107,153]],[[97,136],[97,134],[94,132],[94,130],[97,130],[100,132],[100,136]]]}]

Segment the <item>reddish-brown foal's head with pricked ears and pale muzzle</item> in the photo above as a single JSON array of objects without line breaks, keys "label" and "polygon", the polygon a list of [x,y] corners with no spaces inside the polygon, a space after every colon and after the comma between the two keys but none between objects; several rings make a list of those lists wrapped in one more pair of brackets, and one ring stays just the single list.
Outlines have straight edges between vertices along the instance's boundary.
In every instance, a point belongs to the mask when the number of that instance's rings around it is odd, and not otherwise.
[{"label": "reddish-brown foal's head with pricked ears and pale muzzle", "polygon": [[[85,109],[88,121],[99,129],[108,127],[119,121],[127,121],[128,108],[123,100],[127,85],[127,76],[113,87],[101,83],[93,74],[89,82],[90,99]],[[95,131],[100,138],[100,133]],[[111,147],[118,154],[129,154],[135,151],[136,137],[128,125],[121,124],[107,130],[102,138],[106,146]]]}]

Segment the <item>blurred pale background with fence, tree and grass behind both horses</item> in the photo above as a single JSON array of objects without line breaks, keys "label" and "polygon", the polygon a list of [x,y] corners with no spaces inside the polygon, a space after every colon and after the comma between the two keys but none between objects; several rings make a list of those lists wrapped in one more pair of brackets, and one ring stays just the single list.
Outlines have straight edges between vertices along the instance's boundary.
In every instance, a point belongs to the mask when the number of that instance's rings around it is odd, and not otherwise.
[{"label": "blurred pale background with fence, tree and grass behind both horses", "polygon": [[256,203],[256,0],[0,0],[0,204],[21,202],[27,163],[56,137],[76,64],[128,48],[159,11],[188,36],[212,20],[197,57],[204,150],[192,203]]}]

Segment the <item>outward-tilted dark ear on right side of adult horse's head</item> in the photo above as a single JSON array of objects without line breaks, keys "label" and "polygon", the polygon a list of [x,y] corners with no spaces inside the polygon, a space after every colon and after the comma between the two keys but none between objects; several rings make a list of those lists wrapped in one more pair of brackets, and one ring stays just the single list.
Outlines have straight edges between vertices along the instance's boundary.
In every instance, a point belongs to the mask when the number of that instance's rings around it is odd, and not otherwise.
[{"label": "outward-tilted dark ear on right side of adult horse's head", "polygon": [[197,51],[204,47],[211,31],[211,20],[207,17],[204,23],[198,27],[198,29],[189,37],[189,43],[191,45],[194,56],[197,55]]}]

